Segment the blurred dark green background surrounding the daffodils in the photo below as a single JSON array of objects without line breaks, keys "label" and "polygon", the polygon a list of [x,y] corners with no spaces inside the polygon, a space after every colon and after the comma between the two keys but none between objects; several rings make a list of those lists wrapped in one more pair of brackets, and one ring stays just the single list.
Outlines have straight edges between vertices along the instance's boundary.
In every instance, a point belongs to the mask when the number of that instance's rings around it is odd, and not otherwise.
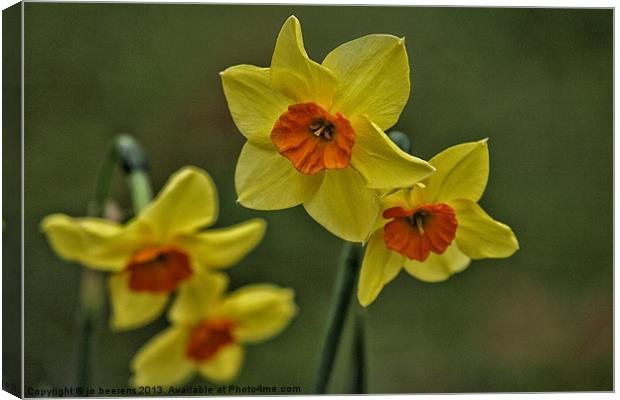
[{"label": "blurred dark green background surrounding the daffodils", "polygon": [[[244,143],[218,72],[268,66],[286,19],[315,60],[369,33],[406,37],[412,93],[397,128],[425,159],[489,137],[482,206],[521,250],[439,284],[406,273],[368,309],[369,391],[612,389],[611,10],[39,4],[25,6],[25,382],[72,385],[81,267],[60,261],[38,224],[85,214],[107,141],[134,134],[154,188],[186,164],[219,189],[217,226],[264,217],[265,240],[230,269],[233,287],[295,288],[300,307],[248,349],[240,385],[311,390],[342,246],[302,208],[235,203]],[[114,194],[128,206],[120,179]],[[123,387],[128,362],[160,331],[99,328],[95,386]],[[350,328],[347,328],[349,333]],[[345,343],[346,344],[346,343]],[[346,349],[346,347],[345,347]],[[347,392],[349,354],[333,392]],[[195,384],[201,383],[197,378]]]}]

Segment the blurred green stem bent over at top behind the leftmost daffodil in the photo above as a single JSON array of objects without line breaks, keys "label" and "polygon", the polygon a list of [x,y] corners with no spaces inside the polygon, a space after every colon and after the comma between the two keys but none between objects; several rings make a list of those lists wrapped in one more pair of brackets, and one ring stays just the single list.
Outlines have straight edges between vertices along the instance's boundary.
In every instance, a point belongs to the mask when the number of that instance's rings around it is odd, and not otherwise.
[{"label": "blurred green stem bent over at top behind the leftmost daffodil", "polygon": [[[144,151],[132,136],[120,134],[110,141],[106,149],[105,159],[97,177],[95,199],[89,205],[89,215],[99,218],[106,217],[106,203],[117,165],[127,175],[127,185],[131,193],[134,212],[137,214],[150,202],[152,191],[146,173],[147,163]],[[84,389],[90,384],[94,333],[101,317],[104,299],[103,274],[84,268],[80,281],[79,325],[81,338],[77,364],[78,387]]]}]

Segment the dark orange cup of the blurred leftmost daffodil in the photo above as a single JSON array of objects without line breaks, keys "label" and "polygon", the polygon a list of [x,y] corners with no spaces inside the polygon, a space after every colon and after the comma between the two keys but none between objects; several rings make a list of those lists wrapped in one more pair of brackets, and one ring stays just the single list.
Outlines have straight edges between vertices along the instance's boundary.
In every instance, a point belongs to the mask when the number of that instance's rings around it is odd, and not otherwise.
[{"label": "dark orange cup of the blurred leftmost daffodil", "polygon": [[189,257],[169,246],[147,247],[131,258],[129,289],[136,292],[172,292],[192,275]]}]

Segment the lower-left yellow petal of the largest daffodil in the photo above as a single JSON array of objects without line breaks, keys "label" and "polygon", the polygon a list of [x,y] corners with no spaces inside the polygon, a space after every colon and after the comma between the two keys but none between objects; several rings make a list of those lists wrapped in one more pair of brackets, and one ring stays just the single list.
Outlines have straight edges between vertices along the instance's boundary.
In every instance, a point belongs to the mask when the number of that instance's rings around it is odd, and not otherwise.
[{"label": "lower-left yellow petal of the largest daffodil", "polygon": [[239,202],[255,210],[281,210],[312,198],[323,174],[304,175],[275,148],[250,142],[241,150],[235,173]]}]

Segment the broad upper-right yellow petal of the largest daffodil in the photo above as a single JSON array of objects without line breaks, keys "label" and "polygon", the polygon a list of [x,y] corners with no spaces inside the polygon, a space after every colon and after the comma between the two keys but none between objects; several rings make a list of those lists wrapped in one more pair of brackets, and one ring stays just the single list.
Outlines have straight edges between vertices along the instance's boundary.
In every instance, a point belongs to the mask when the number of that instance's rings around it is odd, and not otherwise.
[{"label": "broad upper-right yellow petal of the largest daffodil", "polygon": [[323,65],[338,79],[333,110],[365,114],[381,129],[398,121],[410,90],[405,39],[364,36],[335,48]]}]

